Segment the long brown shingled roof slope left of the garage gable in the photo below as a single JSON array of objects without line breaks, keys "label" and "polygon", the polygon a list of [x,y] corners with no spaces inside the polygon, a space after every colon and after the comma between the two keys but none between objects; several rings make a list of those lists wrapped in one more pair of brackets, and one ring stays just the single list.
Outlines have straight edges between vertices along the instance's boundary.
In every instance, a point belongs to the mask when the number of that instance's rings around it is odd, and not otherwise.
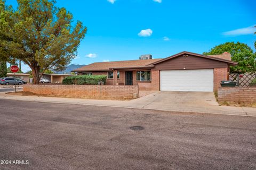
[{"label": "long brown shingled roof slope left of the garage gable", "polygon": [[74,72],[82,72],[82,71],[109,71],[110,68],[126,68],[126,67],[143,67],[146,65],[150,65],[150,63],[157,62],[162,60],[162,58],[151,59],[151,60],[129,60],[129,61],[117,61],[117,62],[99,62],[92,63],[86,66],[83,66],[79,69],[73,70]]}]

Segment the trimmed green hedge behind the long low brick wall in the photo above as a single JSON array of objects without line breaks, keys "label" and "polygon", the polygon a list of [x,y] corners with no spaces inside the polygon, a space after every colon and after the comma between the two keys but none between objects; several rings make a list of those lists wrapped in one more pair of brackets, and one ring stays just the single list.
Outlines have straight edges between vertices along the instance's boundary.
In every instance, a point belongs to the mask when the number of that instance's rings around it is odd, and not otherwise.
[{"label": "trimmed green hedge behind the long low brick wall", "polygon": [[99,81],[106,83],[107,75],[77,75],[73,77],[66,77],[62,84],[79,84],[79,85],[98,85]]}]

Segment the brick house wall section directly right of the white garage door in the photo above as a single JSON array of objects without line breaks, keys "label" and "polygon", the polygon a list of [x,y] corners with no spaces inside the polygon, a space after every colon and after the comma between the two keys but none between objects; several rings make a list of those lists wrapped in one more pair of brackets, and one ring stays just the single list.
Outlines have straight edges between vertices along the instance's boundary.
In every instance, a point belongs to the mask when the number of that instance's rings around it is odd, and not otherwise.
[{"label": "brick house wall section directly right of the white garage door", "polygon": [[222,80],[228,80],[228,68],[214,69],[214,91],[217,92]]}]

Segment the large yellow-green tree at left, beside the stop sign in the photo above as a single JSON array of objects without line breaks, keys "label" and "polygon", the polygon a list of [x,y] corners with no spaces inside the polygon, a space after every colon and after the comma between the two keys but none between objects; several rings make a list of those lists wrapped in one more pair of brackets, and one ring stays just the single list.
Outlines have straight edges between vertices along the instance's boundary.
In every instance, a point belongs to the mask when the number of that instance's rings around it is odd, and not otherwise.
[{"label": "large yellow-green tree at left, beside the stop sign", "polygon": [[73,15],[53,0],[17,2],[13,10],[0,0],[0,59],[27,64],[38,84],[45,70],[61,69],[75,58],[87,28],[73,24]]}]

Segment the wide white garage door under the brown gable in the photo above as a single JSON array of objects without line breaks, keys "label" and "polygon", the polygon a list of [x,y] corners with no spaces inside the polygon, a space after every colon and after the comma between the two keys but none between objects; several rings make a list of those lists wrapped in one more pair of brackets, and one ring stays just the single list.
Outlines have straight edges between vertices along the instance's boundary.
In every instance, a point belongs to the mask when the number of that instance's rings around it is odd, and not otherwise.
[{"label": "wide white garage door under the brown gable", "polygon": [[160,71],[161,91],[213,91],[213,69]]}]

